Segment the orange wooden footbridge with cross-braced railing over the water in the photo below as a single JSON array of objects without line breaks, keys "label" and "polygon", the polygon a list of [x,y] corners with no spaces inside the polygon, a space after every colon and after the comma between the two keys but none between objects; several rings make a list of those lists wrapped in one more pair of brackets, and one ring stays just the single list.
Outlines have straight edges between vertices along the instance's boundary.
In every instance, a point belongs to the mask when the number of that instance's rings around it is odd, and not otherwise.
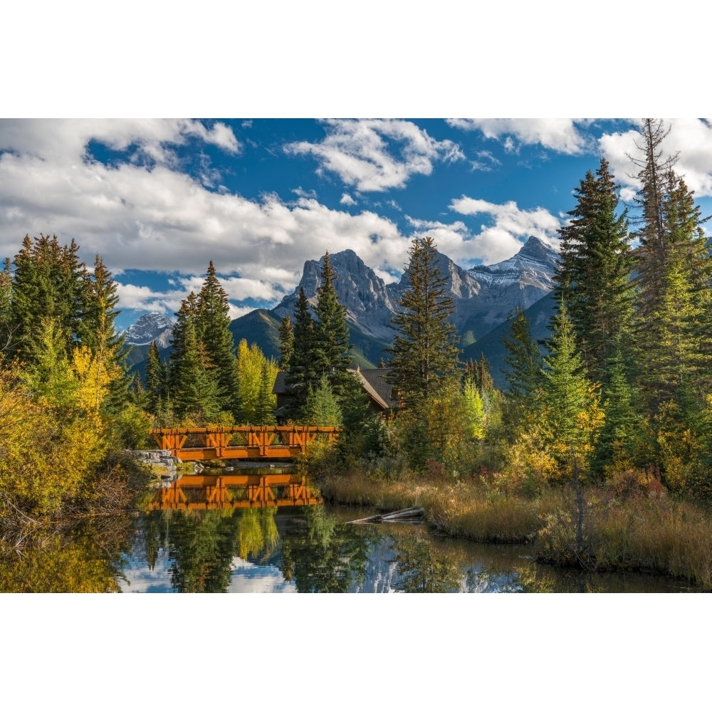
[{"label": "orange wooden footbridge with cross-braced railing over the water", "polygon": [[181,460],[265,460],[305,454],[319,439],[335,441],[339,428],[308,425],[234,425],[166,428],[151,434],[162,450]]}]

